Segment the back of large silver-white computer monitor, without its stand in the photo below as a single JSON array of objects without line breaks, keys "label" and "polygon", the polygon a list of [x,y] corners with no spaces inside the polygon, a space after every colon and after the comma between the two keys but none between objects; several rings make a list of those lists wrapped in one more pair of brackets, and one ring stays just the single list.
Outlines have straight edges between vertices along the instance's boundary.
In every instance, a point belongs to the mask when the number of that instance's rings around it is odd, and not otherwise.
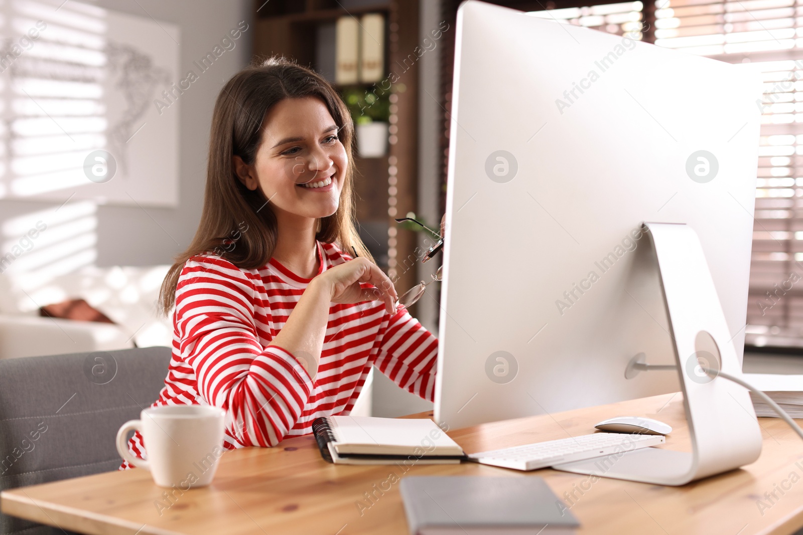
[{"label": "back of large silver-white computer monitor, without its stand", "polygon": [[675,364],[644,221],[697,233],[741,359],[755,71],[475,0],[455,31],[435,419],[681,390],[624,373]]}]

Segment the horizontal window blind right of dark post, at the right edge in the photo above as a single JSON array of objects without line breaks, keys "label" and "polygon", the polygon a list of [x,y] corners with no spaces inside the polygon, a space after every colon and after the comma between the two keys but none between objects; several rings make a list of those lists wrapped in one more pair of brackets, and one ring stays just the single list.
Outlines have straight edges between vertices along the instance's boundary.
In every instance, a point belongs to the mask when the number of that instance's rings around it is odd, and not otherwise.
[{"label": "horizontal window blind right of dark post, at the right edge", "polygon": [[746,343],[803,347],[803,0],[658,0],[655,44],[764,76]]}]

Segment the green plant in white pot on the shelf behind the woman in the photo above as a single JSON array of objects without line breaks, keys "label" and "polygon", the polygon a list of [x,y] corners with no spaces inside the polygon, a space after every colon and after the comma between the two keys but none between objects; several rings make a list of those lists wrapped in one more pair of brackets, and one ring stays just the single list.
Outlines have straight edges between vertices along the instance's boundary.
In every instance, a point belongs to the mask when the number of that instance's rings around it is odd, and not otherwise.
[{"label": "green plant in white pot on the shelf behind the woman", "polygon": [[343,100],[351,111],[357,136],[357,152],[363,158],[378,158],[388,151],[390,99],[388,91],[346,87]]}]

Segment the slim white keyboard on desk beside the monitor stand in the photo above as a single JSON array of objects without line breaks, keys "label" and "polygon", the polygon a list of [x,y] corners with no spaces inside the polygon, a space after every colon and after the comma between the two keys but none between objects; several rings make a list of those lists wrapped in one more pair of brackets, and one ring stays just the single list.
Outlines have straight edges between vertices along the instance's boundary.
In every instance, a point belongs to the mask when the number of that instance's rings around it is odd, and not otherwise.
[{"label": "slim white keyboard on desk beside the monitor stand", "polygon": [[513,448],[495,449],[490,452],[472,453],[468,458],[476,463],[503,468],[536,470],[553,464],[571,463],[575,460],[630,452],[634,449],[664,444],[664,442],[666,440],[660,435],[593,433],[568,439],[524,444],[524,446],[514,446]]}]

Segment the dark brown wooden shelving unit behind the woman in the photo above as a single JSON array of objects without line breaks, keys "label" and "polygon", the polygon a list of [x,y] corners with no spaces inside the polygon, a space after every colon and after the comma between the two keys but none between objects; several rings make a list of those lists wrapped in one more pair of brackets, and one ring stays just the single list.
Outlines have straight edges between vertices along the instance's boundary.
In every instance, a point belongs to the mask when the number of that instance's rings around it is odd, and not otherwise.
[{"label": "dark brown wooden shelving unit behind the woman", "polygon": [[[361,6],[340,6],[343,0],[255,0],[254,54],[259,58],[283,55],[312,68],[320,25],[342,16],[385,15],[386,74],[418,45],[418,2],[385,0]],[[363,3],[363,2],[355,2]],[[402,85],[403,84],[403,85]],[[345,86],[332,84],[338,89]],[[364,86],[369,91],[373,84]],[[418,64],[404,72],[398,91],[391,95],[391,124],[395,133],[389,154],[381,158],[354,156],[357,172],[357,222],[365,246],[377,264],[393,279],[401,294],[418,282],[417,233],[393,229],[393,217],[415,211],[418,193]],[[390,192],[393,192],[391,194]],[[415,315],[415,307],[410,310]]]}]

